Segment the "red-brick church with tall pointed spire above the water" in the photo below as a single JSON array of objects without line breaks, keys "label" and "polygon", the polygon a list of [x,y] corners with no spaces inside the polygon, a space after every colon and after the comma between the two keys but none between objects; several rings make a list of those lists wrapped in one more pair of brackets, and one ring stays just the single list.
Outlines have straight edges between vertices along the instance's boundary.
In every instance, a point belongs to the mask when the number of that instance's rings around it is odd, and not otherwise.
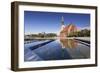
[{"label": "red-brick church with tall pointed spire above the water", "polygon": [[77,28],[74,24],[64,25],[64,18],[62,16],[61,19],[61,29],[60,29],[60,37],[67,37],[70,33],[74,33],[77,31]]}]

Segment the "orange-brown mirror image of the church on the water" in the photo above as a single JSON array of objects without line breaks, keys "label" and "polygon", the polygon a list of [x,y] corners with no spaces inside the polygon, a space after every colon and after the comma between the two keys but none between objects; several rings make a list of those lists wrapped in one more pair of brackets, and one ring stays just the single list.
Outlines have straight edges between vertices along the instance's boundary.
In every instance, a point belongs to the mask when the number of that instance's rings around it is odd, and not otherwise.
[{"label": "orange-brown mirror image of the church on the water", "polygon": [[74,39],[60,39],[60,44],[62,48],[74,49],[77,47],[77,41]]}]

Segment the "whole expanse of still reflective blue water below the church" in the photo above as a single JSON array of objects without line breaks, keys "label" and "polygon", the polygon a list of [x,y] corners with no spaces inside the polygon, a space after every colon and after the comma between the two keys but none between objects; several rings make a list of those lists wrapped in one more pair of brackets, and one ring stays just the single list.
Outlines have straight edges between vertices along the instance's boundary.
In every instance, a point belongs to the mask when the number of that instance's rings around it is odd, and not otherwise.
[{"label": "whole expanse of still reflective blue water below the church", "polygon": [[[87,59],[90,58],[90,47],[74,40],[60,39],[51,41],[37,41],[24,45],[24,61],[47,61],[47,60],[65,60],[65,59]],[[36,47],[37,45],[40,45]],[[33,49],[32,49],[33,48]]]}]

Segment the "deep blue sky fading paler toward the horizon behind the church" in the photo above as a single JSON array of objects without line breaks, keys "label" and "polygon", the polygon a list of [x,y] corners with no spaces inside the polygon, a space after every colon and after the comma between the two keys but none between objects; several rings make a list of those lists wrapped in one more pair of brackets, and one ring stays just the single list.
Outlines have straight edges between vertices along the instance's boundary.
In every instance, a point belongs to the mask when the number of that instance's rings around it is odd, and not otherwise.
[{"label": "deep blue sky fading paler toward the horizon behind the church", "polygon": [[77,28],[90,27],[90,14],[24,11],[24,32],[25,34],[58,33],[62,16],[65,25],[73,23]]}]

